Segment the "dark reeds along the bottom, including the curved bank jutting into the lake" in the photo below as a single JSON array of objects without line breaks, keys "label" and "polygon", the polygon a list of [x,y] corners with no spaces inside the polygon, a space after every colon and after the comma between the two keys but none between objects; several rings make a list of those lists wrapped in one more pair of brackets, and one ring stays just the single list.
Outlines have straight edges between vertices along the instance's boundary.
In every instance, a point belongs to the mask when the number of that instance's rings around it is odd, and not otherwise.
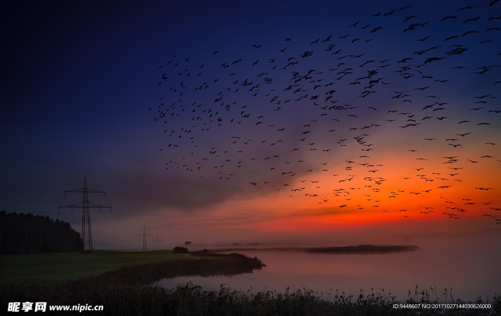
[{"label": "dark reeds along the bottom, including the curved bank jutting into the lake", "polygon": [[[196,263],[198,262],[198,264]],[[191,266],[193,265],[193,266]],[[177,275],[234,274],[261,268],[258,258],[239,254],[200,260],[176,260],[125,266],[97,276],[56,284],[2,285],[0,308],[8,302],[46,301],[48,305],[103,305],[99,315],[496,315],[501,314],[501,295],[487,297],[490,309],[397,309],[394,303],[461,303],[451,291],[435,288],[409,290],[406,298],[391,294],[358,295],[345,292],[315,292],[306,288],[285,293],[267,290],[254,293],[221,284],[217,291],[205,291],[188,282],[174,289],[159,284],[144,285],[155,277]],[[229,268],[229,270],[225,270]],[[240,272],[237,272],[240,270]],[[230,272],[230,273],[229,273]],[[158,278],[157,278],[158,280]],[[4,309],[3,311],[6,311]],[[67,313],[67,312],[66,312]],[[61,312],[64,314],[64,312]],[[83,314],[92,314],[85,311]]]}]

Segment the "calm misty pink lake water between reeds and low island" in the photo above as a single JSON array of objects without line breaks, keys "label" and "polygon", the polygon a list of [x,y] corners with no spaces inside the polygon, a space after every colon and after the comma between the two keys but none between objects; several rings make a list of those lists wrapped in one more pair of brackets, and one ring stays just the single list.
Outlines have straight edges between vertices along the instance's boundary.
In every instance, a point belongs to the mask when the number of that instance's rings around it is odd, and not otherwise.
[{"label": "calm misty pink lake water between reeds and low island", "polygon": [[[336,290],[365,295],[373,291],[408,298],[409,290],[436,288],[442,300],[485,300],[501,293],[501,247],[498,230],[465,234],[423,234],[407,237],[417,251],[389,254],[316,254],[294,250],[230,250],[257,256],[266,264],[262,270],[233,277],[179,277],[162,280],[166,288],[192,281],[205,290],[218,290],[226,284],[236,290],[256,293],[262,290],[289,292],[310,289],[324,295]],[[264,247],[264,246],[263,246]],[[221,247],[222,248],[222,247]],[[447,297],[441,292],[447,289]],[[432,297],[433,298],[433,297]]]}]

